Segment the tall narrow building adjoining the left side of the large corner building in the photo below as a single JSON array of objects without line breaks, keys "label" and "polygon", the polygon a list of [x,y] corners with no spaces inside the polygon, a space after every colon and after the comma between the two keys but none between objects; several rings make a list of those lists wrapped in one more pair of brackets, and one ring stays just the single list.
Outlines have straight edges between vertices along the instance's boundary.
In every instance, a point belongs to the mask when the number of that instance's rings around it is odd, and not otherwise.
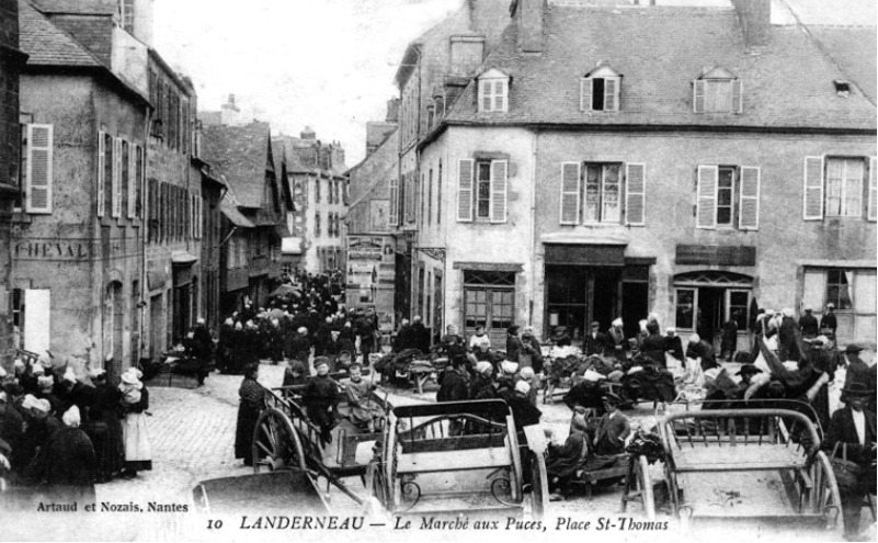
[{"label": "tall narrow building adjoining the left side of the large corner building", "polygon": [[[427,270],[421,272],[414,261],[422,250],[442,254],[433,251],[437,247],[415,240],[424,212],[419,203],[426,202],[426,194],[432,193],[425,188],[441,181],[429,179],[429,170],[420,167],[417,146],[449,111],[476,68],[498,43],[509,21],[509,9],[508,0],[463,2],[457,12],[409,44],[395,78],[400,93],[399,174],[390,180],[388,215],[395,230],[399,271],[395,285],[396,308],[404,316],[422,315],[424,324],[434,330],[443,327],[442,298],[435,297],[435,285],[443,289],[442,273],[436,278],[431,269],[427,276]],[[415,290],[420,275],[433,286]],[[423,303],[418,304],[419,299]]]}]

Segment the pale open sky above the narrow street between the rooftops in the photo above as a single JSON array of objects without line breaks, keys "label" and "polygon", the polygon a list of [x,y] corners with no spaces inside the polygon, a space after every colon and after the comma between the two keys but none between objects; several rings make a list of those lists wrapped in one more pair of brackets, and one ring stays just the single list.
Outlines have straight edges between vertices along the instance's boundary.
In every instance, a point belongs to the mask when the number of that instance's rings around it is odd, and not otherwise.
[{"label": "pale open sky above the narrow street between the rooftops", "polygon": [[272,132],[307,125],[340,140],[347,166],[365,155],[366,122],[398,94],[406,46],[463,0],[155,0],[153,43],[193,79],[198,109],[228,94]]}]

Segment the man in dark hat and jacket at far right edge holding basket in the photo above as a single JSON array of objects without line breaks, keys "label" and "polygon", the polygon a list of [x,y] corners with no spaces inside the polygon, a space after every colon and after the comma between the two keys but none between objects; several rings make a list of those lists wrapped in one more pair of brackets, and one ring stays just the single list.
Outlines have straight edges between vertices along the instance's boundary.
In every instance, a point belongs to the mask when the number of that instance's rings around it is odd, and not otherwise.
[{"label": "man in dark hat and jacket at far right edge holding basket", "polygon": [[848,541],[859,541],[859,513],[866,494],[875,494],[876,426],[875,414],[865,410],[866,398],[875,395],[863,383],[852,383],[842,389],[842,401],[846,404],[832,415],[823,446],[834,451],[835,457],[854,462],[858,473],[841,473],[834,467],[842,497],[844,535]]}]

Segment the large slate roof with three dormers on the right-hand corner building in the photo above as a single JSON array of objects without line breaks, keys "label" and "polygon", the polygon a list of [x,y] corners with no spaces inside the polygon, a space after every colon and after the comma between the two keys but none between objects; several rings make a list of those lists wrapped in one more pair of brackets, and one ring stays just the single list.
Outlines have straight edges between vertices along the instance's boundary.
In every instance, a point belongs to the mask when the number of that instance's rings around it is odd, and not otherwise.
[{"label": "large slate roof with three dormers on the right-hand corner building", "polygon": [[[744,50],[738,14],[723,8],[549,4],[545,49],[523,55],[510,24],[483,68],[512,77],[509,112],[479,113],[470,83],[448,124],[693,125],[874,129],[862,95],[839,98],[844,79],[796,26],[773,26],[761,53]],[[875,63],[875,48],[870,52]],[[606,60],[622,73],[618,112],[581,112],[580,78]],[[692,112],[692,80],[722,66],[743,82],[743,114]]]}]

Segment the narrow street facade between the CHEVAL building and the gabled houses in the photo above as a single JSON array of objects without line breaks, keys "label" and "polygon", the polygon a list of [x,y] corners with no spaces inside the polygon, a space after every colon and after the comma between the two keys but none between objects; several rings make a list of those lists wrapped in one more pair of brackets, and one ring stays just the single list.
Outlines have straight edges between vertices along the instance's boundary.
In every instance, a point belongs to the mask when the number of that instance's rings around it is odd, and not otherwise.
[{"label": "narrow street facade between the CHEVAL building and the gabled houses", "polygon": [[160,358],[201,313],[202,173],[193,162],[196,97],[189,79],[149,50],[144,357]]}]

